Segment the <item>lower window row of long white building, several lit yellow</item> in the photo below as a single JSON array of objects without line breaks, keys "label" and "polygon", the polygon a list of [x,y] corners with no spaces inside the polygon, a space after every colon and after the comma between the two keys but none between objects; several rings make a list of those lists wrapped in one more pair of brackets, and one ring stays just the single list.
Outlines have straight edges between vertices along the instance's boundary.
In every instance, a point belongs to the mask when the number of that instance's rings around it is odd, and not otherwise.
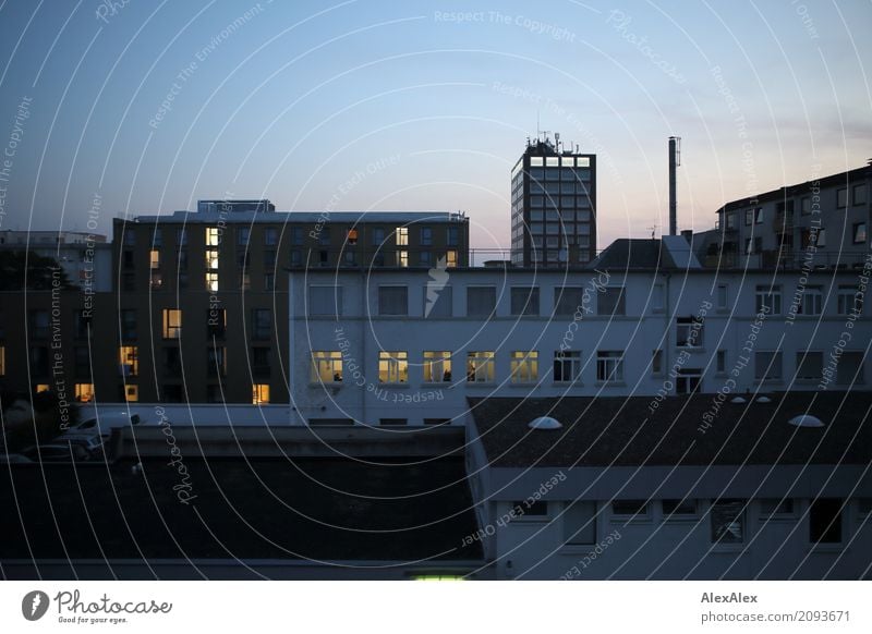
[{"label": "lower window row of long white building, several lit yellow", "polygon": [[[596,381],[601,383],[623,382],[623,350],[598,350],[596,364]],[[782,351],[760,350],[754,352],[754,379],[758,381],[784,380],[784,353]],[[462,361],[461,356],[461,361]],[[421,353],[420,366],[423,382],[451,382],[453,379],[452,362],[456,355],[450,351],[424,351]],[[493,383],[496,378],[496,352],[468,351],[465,353],[465,380],[471,383]],[[664,376],[663,350],[652,351],[651,375]],[[864,383],[863,353],[845,351],[838,364],[829,368],[824,353],[821,351],[801,351],[796,353],[795,380],[821,381],[824,371],[832,371],[831,382],[836,385]],[[582,371],[592,359],[582,356],[580,350],[554,351],[552,361],[552,380],[556,383],[576,383],[582,380]],[[415,362],[419,363],[419,362]],[[730,359],[726,350],[715,353],[714,370],[717,375],[726,375]],[[414,365],[414,364],[413,364]],[[408,383],[410,357],[408,351],[379,351],[378,381],[380,383]],[[681,366],[677,369],[675,390],[678,394],[689,394],[700,389],[704,368]],[[546,375],[547,377],[547,370]],[[312,352],[312,382],[341,383],[346,379],[344,357],[341,351]],[[535,383],[540,380],[540,353],[536,350],[511,351],[509,353],[509,382]]]}]

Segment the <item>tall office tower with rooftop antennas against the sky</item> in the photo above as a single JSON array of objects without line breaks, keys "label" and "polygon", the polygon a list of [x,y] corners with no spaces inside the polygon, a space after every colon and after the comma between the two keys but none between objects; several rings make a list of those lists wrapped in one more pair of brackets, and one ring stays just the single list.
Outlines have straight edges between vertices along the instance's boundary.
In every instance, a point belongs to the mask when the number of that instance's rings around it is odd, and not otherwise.
[{"label": "tall office tower with rooftop antennas against the sky", "polygon": [[579,267],[596,257],[596,155],[528,142],[511,171],[511,261]]}]

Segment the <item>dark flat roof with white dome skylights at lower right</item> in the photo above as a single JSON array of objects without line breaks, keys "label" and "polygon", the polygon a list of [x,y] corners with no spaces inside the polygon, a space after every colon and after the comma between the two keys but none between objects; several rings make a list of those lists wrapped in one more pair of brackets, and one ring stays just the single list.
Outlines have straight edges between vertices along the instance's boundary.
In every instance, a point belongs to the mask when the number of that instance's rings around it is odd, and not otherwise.
[{"label": "dark flat roof with white dome skylights at lower right", "polygon": [[[869,464],[872,392],[767,394],[771,403],[714,407],[714,394],[565,399],[469,399],[475,426],[497,467],[741,464]],[[746,397],[749,398],[750,397]],[[825,427],[787,422],[810,413]],[[706,414],[711,427],[701,430]],[[537,416],[559,430],[531,430]]]}]

